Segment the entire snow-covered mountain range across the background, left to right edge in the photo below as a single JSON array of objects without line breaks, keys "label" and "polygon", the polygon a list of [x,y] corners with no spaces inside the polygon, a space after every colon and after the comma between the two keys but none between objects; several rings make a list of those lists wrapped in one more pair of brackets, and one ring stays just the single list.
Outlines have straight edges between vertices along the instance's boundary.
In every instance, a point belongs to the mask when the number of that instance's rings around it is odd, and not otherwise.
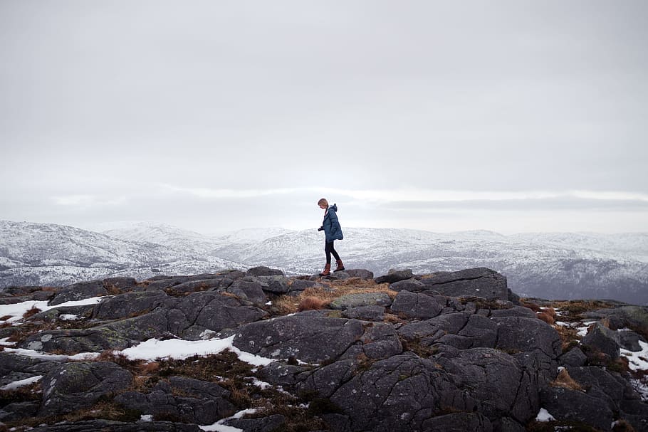
[{"label": "entire snow-covered mountain range across the background, left to right edge", "polygon": [[[347,268],[367,268],[376,274],[390,268],[424,274],[487,267],[506,275],[511,289],[527,297],[648,304],[648,233],[503,236],[491,231],[345,228],[345,240],[336,248]],[[323,258],[323,236],[316,229],[253,228],[214,237],[146,223],[99,234],[0,222],[0,287],[256,265],[293,275],[313,274],[323,268]]]}]

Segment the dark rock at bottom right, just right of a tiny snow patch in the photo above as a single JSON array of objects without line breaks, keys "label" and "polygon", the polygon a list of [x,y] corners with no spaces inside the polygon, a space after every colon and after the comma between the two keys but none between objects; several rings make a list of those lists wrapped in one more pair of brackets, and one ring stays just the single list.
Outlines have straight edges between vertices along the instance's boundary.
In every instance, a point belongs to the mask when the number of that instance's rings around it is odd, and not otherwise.
[{"label": "dark rock at bottom right, just right of a tiny snow patch", "polygon": [[547,387],[540,391],[540,404],[556,420],[580,421],[601,431],[610,431],[615,420],[605,402],[578,390]]}]

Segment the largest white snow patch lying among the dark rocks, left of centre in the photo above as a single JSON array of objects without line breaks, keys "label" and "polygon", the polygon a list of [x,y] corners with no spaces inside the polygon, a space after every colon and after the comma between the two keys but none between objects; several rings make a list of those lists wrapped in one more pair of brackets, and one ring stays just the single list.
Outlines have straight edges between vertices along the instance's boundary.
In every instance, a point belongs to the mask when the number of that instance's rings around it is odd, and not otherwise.
[{"label": "largest white snow patch lying among the dark rocks, left of centre", "polygon": [[253,364],[254,366],[266,366],[274,362],[273,359],[260,357],[249,352],[241,351],[234,347],[234,336],[226,339],[207,339],[207,340],[182,340],[182,339],[148,339],[135,347],[122,350],[128,359],[142,359],[153,361],[155,359],[187,359],[194,355],[218,354],[225,349],[236,353],[241,362]]}]

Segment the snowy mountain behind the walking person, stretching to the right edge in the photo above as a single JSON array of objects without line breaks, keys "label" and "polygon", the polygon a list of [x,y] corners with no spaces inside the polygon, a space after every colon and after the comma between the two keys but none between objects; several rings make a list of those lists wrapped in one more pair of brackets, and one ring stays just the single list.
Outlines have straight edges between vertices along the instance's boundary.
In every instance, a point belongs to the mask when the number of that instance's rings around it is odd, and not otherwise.
[{"label": "snowy mountain behind the walking person, stretching to the right edge", "polygon": [[[648,304],[648,234],[490,231],[430,233],[406,229],[345,228],[335,243],[348,268],[377,275],[390,268],[414,273],[488,267],[520,295],[553,299],[610,298]],[[221,246],[221,258],[314,273],[324,264],[323,234],[286,233],[256,244]]]}]

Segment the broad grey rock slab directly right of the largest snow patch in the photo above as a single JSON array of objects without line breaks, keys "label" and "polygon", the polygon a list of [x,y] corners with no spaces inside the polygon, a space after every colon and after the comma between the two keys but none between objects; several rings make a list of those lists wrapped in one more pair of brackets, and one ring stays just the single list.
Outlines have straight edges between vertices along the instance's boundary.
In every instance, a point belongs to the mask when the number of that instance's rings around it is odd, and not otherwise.
[{"label": "broad grey rock slab directly right of the largest snow patch", "polygon": [[364,334],[357,320],[321,317],[308,312],[242,325],[234,346],[272,359],[296,357],[320,363],[337,359]]}]

